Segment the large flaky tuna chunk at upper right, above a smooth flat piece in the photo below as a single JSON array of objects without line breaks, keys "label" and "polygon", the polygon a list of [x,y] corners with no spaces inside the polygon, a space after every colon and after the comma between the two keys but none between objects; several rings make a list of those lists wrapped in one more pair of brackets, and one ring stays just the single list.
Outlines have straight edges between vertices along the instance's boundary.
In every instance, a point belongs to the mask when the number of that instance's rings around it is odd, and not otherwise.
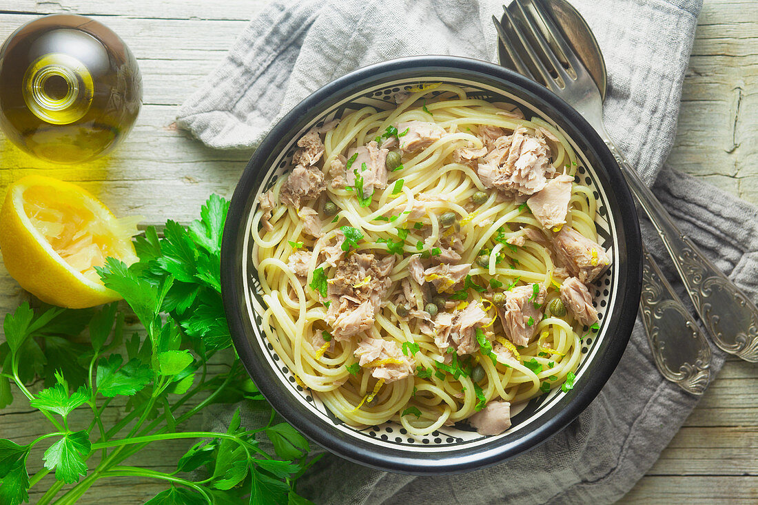
[{"label": "large flaky tuna chunk at upper right, above a smooth flat piece", "polygon": [[550,165],[550,147],[543,136],[531,136],[518,127],[509,137],[494,141],[494,148],[481,158],[478,174],[487,187],[506,193],[532,195],[547,184],[546,174],[555,173]]}]

